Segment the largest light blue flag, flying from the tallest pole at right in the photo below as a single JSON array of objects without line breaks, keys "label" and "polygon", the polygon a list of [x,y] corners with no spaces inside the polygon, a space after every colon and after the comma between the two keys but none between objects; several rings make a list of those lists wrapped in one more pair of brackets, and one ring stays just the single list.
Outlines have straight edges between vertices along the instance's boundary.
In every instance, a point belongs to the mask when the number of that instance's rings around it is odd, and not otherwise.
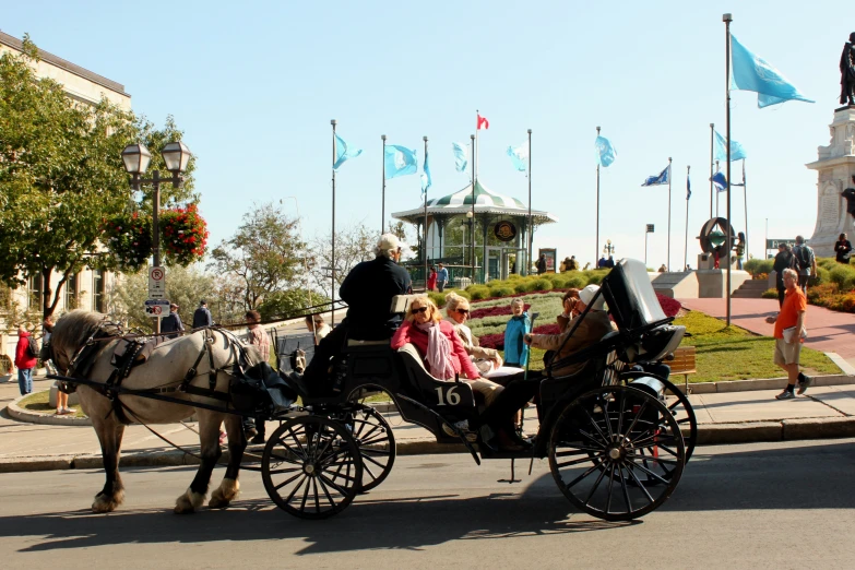
[{"label": "largest light blue flag, flying from the tallest pole at right", "polygon": [[731,34],[731,88],[756,92],[758,107],[763,108],[785,100],[814,103],[767,60],[737,41],[733,34]]}]

